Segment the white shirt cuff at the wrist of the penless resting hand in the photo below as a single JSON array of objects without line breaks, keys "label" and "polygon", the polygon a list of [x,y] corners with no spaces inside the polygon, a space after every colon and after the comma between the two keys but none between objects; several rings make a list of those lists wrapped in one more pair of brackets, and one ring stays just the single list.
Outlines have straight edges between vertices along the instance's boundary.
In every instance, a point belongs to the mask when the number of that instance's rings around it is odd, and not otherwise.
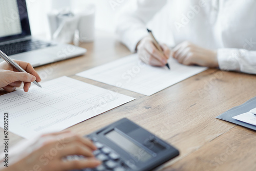
[{"label": "white shirt cuff at the wrist of the penless resting hand", "polygon": [[240,71],[240,52],[238,49],[219,49],[217,56],[221,70]]}]

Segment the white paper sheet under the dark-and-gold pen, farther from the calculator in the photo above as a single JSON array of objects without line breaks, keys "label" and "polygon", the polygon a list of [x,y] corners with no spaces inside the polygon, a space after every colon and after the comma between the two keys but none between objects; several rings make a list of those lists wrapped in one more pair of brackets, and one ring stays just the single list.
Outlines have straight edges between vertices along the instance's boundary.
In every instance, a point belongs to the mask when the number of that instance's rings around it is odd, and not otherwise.
[{"label": "white paper sheet under the dark-and-gold pen, farther from the calculator", "polygon": [[133,54],[76,75],[151,96],[207,69],[184,66],[173,58],[168,63],[171,70],[147,66]]}]

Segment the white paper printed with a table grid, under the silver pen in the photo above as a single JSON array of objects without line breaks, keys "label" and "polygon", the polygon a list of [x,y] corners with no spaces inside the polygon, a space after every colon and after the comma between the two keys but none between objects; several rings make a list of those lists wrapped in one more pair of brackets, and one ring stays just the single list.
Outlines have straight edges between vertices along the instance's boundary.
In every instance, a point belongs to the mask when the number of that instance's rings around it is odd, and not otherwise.
[{"label": "white paper printed with a table grid, under the silver pen", "polygon": [[0,96],[1,116],[9,114],[9,131],[29,139],[64,130],[134,100],[69,77],[41,85],[42,88],[31,87],[28,93],[18,90]]}]

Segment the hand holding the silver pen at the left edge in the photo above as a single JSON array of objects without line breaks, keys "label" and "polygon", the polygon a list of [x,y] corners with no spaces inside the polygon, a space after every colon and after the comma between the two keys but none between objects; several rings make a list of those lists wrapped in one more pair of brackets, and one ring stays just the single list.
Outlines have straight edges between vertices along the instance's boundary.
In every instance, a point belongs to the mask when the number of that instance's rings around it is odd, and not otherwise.
[{"label": "hand holding the silver pen at the left edge", "polygon": [[7,92],[12,92],[22,85],[24,82],[24,91],[28,92],[31,82],[40,82],[41,78],[33,69],[30,63],[14,60],[26,72],[17,72],[15,68],[9,65],[6,61],[0,63],[0,89],[3,88]]}]

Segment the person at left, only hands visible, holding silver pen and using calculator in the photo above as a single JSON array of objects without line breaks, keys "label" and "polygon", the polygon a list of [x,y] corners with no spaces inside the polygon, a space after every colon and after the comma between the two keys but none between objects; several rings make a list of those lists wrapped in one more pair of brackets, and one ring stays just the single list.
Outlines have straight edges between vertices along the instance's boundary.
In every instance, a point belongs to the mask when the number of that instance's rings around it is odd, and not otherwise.
[{"label": "person at left, only hands visible, holding silver pen and using calculator", "polygon": [[[24,91],[28,92],[31,82],[39,82],[41,79],[29,63],[17,60],[15,62],[28,73],[15,72],[16,70],[7,62],[1,62],[0,89],[12,92],[24,82]],[[96,149],[92,141],[68,131],[46,134],[11,148],[8,167],[4,166],[5,159],[2,158],[0,171],[64,171],[94,168],[101,164],[94,158],[93,151]],[[70,155],[81,155],[85,158],[63,160]]]}]

